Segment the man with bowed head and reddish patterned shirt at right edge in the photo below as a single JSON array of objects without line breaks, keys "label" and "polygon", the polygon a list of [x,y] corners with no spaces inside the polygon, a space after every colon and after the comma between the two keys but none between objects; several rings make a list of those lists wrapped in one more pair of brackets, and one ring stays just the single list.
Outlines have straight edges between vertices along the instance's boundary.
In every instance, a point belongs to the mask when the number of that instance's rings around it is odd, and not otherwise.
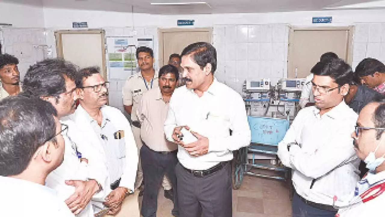
[{"label": "man with bowed head and reddish patterned shirt at right edge", "polygon": [[362,85],[385,95],[385,65],[373,58],[365,58],[356,67],[355,73]]}]

